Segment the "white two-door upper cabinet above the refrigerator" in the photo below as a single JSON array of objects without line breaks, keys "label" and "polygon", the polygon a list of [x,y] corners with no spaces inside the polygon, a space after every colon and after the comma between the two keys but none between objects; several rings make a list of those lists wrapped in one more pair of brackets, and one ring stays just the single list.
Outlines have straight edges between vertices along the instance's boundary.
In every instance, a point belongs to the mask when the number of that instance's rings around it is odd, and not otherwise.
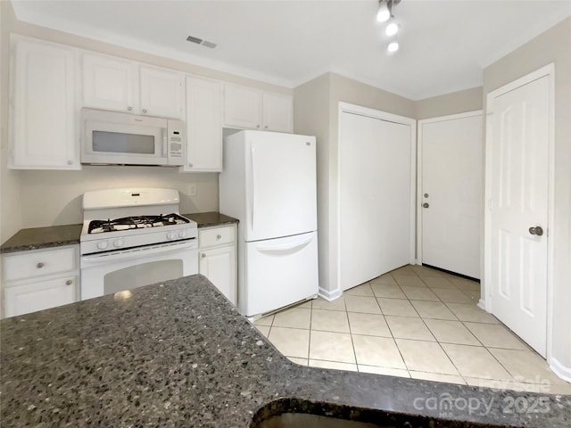
[{"label": "white two-door upper cabinet above the refrigerator", "polygon": [[290,95],[247,86],[224,87],[224,126],[293,132],[294,102]]}]

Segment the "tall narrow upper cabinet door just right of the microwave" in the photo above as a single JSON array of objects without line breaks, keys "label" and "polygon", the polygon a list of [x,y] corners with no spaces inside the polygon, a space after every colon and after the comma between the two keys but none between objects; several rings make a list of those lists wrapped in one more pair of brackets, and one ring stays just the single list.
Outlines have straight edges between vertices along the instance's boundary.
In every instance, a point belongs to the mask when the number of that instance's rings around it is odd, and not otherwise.
[{"label": "tall narrow upper cabinet door just right of the microwave", "polygon": [[186,78],[186,171],[222,170],[222,83]]}]

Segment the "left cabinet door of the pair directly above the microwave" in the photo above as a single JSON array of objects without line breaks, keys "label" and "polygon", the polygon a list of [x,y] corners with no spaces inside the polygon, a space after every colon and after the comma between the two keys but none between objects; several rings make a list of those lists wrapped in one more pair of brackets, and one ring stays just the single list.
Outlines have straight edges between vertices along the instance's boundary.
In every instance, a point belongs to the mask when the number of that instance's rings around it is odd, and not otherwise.
[{"label": "left cabinet door of the pair directly above the microwave", "polygon": [[137,68],[133,62],[104,55],[83,55],[83,106],[135,111]]}]

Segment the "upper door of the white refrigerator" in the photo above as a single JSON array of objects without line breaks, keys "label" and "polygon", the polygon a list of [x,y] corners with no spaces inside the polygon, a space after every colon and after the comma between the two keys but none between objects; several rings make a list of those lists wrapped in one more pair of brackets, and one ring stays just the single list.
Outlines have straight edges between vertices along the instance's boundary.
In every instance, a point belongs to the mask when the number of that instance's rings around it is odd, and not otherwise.
[{"label": "upper door of the white refrigerator", "polygon": [[247,242],[317,230],[313,136],[246,132]]}]

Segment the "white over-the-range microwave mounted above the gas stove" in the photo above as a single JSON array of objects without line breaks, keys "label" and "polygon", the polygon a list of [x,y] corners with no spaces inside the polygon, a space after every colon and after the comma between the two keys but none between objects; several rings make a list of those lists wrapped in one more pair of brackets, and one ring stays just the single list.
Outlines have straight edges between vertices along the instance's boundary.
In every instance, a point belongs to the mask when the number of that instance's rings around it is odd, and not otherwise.
[{"label": "white over-the-range microwave mounted above the gas stove", "polygon": [[185,122],[116,111],[81,109],[81,163],[179,166]]}]

